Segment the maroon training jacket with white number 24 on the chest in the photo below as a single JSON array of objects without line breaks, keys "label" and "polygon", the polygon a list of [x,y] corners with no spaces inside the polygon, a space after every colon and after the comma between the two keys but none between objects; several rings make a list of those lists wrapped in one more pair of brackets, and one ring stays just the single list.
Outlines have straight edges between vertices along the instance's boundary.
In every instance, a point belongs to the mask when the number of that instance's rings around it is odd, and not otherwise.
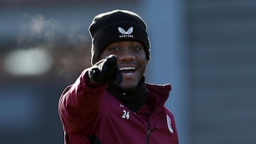
[{"label": "maroon training jacket with white number 24 on the chest", "polygon": [[[88,84],[84,70],[74,84],[60,96],[58,111],[66,144],[178,144],[173,114],[164,106],[171,85],[146,84],[149,103],[134,113],[122,105],[107,84]],[[145,119],[146,118],[146,119]]]}]

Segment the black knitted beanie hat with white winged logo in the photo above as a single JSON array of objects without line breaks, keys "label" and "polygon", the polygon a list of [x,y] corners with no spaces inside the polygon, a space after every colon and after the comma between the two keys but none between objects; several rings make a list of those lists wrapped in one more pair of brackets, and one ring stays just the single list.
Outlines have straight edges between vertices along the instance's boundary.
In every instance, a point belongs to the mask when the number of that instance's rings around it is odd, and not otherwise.
[{"label": "black knitted beanie hat with white winged logo", "polygon": [[92,38],[92,65],[99,60],[107,45],[122,40],[142,43],[146,60],[149,60],[150,43],[146,23],[137,13],[119,9],[101,13],[93,18],[89,31]]}]

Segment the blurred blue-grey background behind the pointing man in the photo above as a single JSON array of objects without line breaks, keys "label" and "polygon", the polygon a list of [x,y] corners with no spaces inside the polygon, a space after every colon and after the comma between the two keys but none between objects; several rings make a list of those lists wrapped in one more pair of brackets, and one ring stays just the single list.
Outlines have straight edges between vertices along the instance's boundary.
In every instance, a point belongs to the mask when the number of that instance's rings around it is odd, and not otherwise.
[{"label": "blurred blue-grey background behind the pointing man", "polygon": [[256,1],[1,0],[1,144],[63,143],[58,99],[90,67],[92,18],[148,26],[146,81],[172,84],[180,144],[256,143]]}]

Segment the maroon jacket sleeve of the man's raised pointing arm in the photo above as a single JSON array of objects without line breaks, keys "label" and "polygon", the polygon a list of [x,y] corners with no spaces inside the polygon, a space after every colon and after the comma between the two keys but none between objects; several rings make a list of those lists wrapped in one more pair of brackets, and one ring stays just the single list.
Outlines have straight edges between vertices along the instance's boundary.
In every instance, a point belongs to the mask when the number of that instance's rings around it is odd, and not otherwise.
[{"label": "maroon jacket sleeve of the man's raised pointing arm", "polygon": [[89,82],[88,70],[85,69],[74,84],[61,94],[58,112],[64,129],[68,133],[86,130],[97,116],[105,85],[93,85]]}]

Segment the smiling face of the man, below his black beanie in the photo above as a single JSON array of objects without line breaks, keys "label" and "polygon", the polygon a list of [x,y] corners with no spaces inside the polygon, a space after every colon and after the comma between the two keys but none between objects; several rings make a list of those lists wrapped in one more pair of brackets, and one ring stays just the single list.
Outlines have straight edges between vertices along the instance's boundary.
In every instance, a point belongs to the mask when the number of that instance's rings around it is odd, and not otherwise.
[{"label": "smiling face of the man, below his black beanie", "polygon": [[142,44],[136,41],[111,43],[103,50],[100,59],[108,55],[117,56],[117,65],[123,79],[121,87],[124,89],[137,87],[149,62],[146,60],[146,53]]}]

